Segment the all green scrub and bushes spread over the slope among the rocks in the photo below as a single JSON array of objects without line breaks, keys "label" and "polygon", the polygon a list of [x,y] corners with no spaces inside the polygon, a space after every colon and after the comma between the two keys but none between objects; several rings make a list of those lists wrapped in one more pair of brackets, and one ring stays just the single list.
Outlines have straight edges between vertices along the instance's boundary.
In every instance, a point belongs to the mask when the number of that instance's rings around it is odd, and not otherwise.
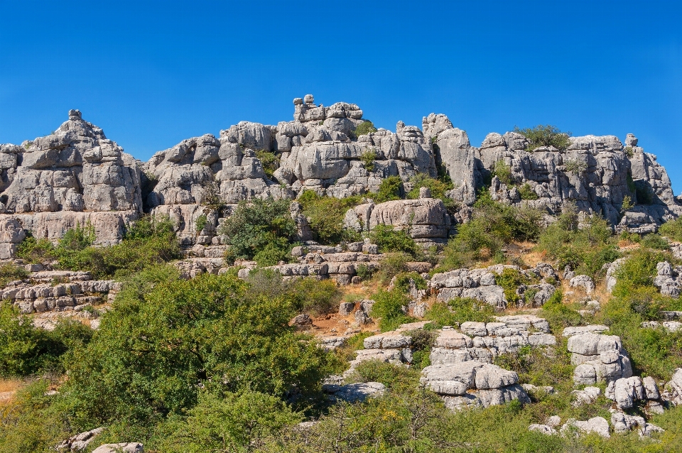
[{"label": "all green scrub and bushes spread over the slope among the rocks", "polygon": [[[538,146],[563,146],[564,135],[557,131],[538,131],[545,134],[538,137],[526,133]],[[430,178],[414,182],[416,188],[404,194],[399,180],[387,178],[372,197],[375,202],[417,197],[424,185],[434,197],[445,198],[452,188]],[[298,201],[320,243],[362,239],[341,226],[360,197],[335,200],[304,192]],[[239,204],[221,232],[230,245],[229,259],[268,266],[291,259],[295,231],[288,202],[252,200]],[[28,238],[19,250],[27,263],[51,261],[55,268],[117,278],[124,289],[94,332],[67,321],[48,332],[9,305],[1,307],[0,376],[23,381],[11,400],[0,400],[0,452],[53,451],[69,435],[99,426],[107,427],[99,443],[135,440],[144,442],[146,452],[681,451],[682,408],[651,418],[666,429],[655,441],[639,440],[636,433],[605,440],[548,437],[527,429],[550,415],[610,417],[610,401],[603,395],[590,405],[572,404],[573,366],[561,337],[564,327],[607,325],[622,338],[638,375],[665,381],[682,366],[682,332],[640,327],[643,321],[662,320],[666,310],[682,310],[682,302],[660,295],[653,285],[656,263],[678,264],[662,236],[682,239],[682,222],[665,224],[660,235],[615,236],[604,220],[580,218],[569,208],[546,225],[541,212],[495,202],[487,190],[443,253],[423,251],[405,231],[374,229],[369,237],[386,256],[374,275],[358,273],[365,295],[376,301],[372,317],[379,318],[382,331],[415,321],[404,311],[407,293],[410,285],[426,288],[426,280],[407,271],[408,261],[433,261],[436,271],[493,263],[525,266],[513,252],[521,244],[556,268],[570,266],[599,283],[605,263],[626,258],[612,295],[595,315],[578,313],[575,298],[561,288],[536,311],[557,334],[556,346],[497,358],[499,366],[519,373],[521,383],[554,386],[556,393],[533,391],[528,405],[459,413],[418,384],[421,369],[430,364],[431,331],[458,322],[489,322],[495,315],[490,305],[464,298],[431,300],[426,312],[431,324],[410,332],[413,366],[365,362],[346,381],[379,381],[386,394],[365,403],[335,404],[322,393],[321,381],[347,368],[369,332],[325,351],[310,334],[289,325],[300,313],[338,310],[345,290],[330,280],[286,282],[267,270],[244,280],[235,272],[180,280],[166,264],[179,256],[168,220],[141,219],[121,244],[109,247],[93,246],[90,226],[69,231],[56,245]],[[0,268],[4,283],[21,278],[26,278],[23,268]],[[497,278],[503,288],[524,283],[514,272]],[[523,307],[524,301],[516,302]],[[48,393],[53,389],[58,393]],[[314,423],[301,427],[302,421]]]}]

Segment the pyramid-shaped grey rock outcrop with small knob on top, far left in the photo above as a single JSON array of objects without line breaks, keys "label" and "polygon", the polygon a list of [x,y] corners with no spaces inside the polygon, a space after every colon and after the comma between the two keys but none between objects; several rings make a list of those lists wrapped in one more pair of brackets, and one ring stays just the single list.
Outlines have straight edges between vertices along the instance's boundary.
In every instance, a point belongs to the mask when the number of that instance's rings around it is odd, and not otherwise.
[{"label": "pyramid-shaped grey rock outcrop with small knob on top, far left", "polygon": [[[80,111],[69,111],[68,121],[48,136],[0,146],[0,156],[4,226],[15,219],[33,236],[60,239],[67,229],[90,223],[98,244],[112,244],[142,212],[136,160]],[[3,242],[2,259],[13,252],[4,244],[16,242]]]}]

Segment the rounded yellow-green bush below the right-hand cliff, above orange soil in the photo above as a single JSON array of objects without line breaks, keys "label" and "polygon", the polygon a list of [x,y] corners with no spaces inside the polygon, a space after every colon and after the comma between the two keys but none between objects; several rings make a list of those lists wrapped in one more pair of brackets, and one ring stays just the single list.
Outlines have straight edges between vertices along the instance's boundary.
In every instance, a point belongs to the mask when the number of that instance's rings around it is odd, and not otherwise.
[{"label": "rounded yellow-green bush below the right-hand cliff, above orange soil", "polygon": [[570,266],[592,277],[599,277],[602,266],[619,257],[609,224],[595,216],[579,228],[578,213],[570,207],[542,232],[537,248],[546,251],[559,268]]}]

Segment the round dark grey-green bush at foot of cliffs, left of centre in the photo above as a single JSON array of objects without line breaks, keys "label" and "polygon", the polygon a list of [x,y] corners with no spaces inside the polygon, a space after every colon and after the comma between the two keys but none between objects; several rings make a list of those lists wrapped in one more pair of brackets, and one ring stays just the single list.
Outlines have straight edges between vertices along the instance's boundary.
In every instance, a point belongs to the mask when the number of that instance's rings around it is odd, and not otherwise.
[{"label": "round dark grey-green bush at foot of cliffs, left of centre", "polygon": [[239,202],[232,217],[218,231],[230,246],[226,258],[233,261],[258,256],[261,266],[271,266],[288,257],[296,238],[290,204],[288,200],[272,198]]}]

